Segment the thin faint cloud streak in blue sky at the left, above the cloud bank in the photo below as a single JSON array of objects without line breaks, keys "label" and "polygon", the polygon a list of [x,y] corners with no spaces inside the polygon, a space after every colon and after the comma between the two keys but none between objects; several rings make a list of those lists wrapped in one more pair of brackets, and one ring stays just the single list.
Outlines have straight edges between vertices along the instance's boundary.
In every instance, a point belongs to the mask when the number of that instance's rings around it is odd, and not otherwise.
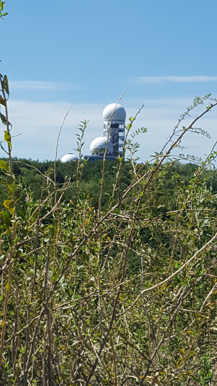
[{"label": "thin faint cloud streak in blue sky at the left, above the cloud bank", "polygon": [[47,90],[47,91],[62,91],[66,89],[83,90],[83,87],[73,86],[70,83],[29,81],[29,80],[12,80],[10,81],[10,88],[14,90]]}]

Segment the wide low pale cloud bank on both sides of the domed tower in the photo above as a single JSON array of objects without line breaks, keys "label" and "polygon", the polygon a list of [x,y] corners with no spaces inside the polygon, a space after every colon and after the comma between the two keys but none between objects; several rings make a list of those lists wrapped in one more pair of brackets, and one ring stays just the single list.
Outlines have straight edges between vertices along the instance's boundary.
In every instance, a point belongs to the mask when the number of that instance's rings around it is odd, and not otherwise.
[{"label": "wide low pale cloud bank on both sides of the domed tower", "polygon": [[[171,134],[173,127],[177,123],[181,113],[185,111],[186,106],[190,105],[192,100],[186,98],[171,99],[153,99],[153,100],[123,100],[127,117],[134,116],[142,104],[144,108],[137,116],[132,127],[132,131],[145,126],[148,128],[147,134],[140,134],[135,141],[141,144],[138,156],[146,160],[154,151],[161,151],[166,137]],[[63,117],[70,103],[66,102],[29,102],[21,100],[10,100],[8,102],[10,122],[12,122],[12,135],[22,134],[13,138],[13,156],[25,157],[40,160],[54,159],[56,149],[56,139],[59,127],[63,122]],[[105,107],[104,103],[83,103],[74,104],[66,118],[63,126],[59,147],[58,157],[61,158],[68,152],[74,152],[76,147],[75,134],[78,133],[78,125],[81,120],[90,120],[85,134],[85,145],[83,154],[90,154],[91,141],[102,135],[103,120],[102,112]],[[192,118],[183,121],[187,126],[205,106],[198,110],[193,110]],[[183,146],[187,147],[184,151],[188,154],[202,156],[208,154],[212,148],[212,143],[216,140],[216,122],[217,108],[205,114],[197,122],[196,127],[202,127],[207,130],[212,139],[207,139],[201,135],[189,133],[185,135]],[[126,121],[126,123],[128,123]],[[182,126],[182,125],[181,125]],[[2,138],[0,138],[1,140]],[[5,156],[0,149],[0,156]]]}]

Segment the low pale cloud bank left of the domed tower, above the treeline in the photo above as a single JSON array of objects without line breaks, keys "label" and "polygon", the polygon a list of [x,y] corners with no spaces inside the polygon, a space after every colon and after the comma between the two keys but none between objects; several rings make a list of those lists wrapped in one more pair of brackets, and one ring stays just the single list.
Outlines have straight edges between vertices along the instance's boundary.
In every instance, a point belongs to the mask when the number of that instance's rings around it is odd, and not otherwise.
[{"label": "low pale cloud bank left of the domed tower, above the treeline", "polygon": [[[13,156],[32,159],[54,159],[56,140],[63,118],[70,107],[67,102],[29,102],[10,100],[8,103],[13,139]],[[59,140],[58,157],[73,152],[75,134],[83,120],[90,120],[85,135],[84,153],[89,154],[90,142],[102,132],[104,106],[84,103],[74,104],[68,114]],[[3,151],[0,149],[0,155]]]}]

